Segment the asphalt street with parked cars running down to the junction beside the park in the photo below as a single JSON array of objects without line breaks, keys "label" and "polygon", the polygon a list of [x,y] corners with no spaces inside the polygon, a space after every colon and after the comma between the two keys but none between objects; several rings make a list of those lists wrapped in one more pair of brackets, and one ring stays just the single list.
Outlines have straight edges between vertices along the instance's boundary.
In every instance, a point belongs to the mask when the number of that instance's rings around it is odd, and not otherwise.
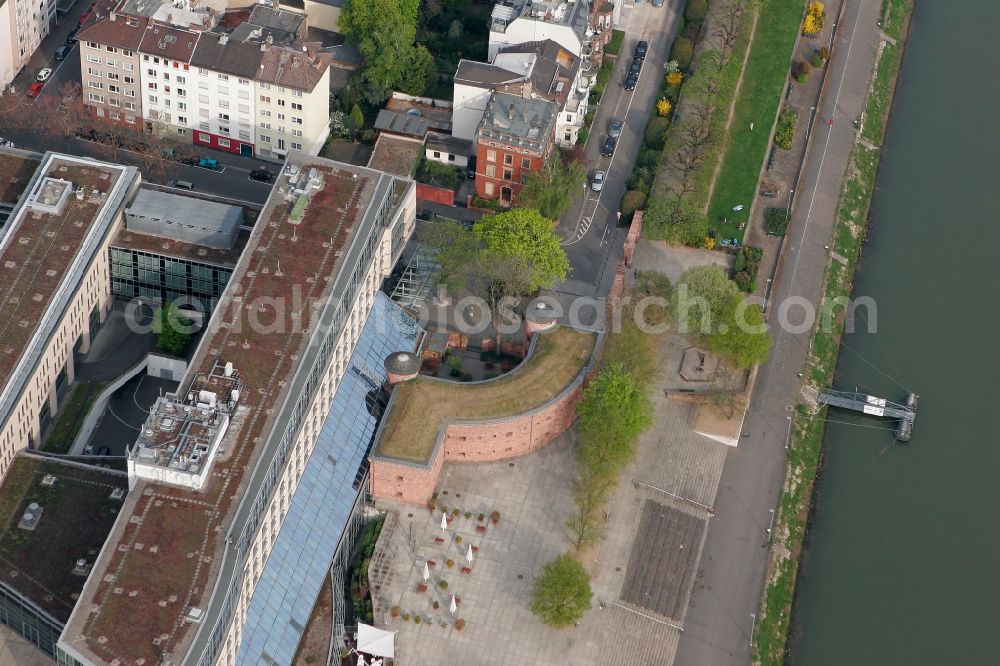
[{"label": "asphalt street with parked cars running down to the junction beside the park", "polygon": [[[663,67],[676,31],[679,7],[674,1],[663,7],[650,3],[627,7],[622,24],[625,43],[615,62],[611,80],[597,108],[593,129],[587,141],[588,176],[595,170],[607,176],[604,188],[592,192],[588,187],[576,197],[563,216],[560,233],[563,247],[573,266],[569,279],[556,292],[561,296],[606,296],[621,257],[625,229],[618,228],[618,204],[639,155],[642,135],[653,105],[659,96]],[[622,87],[632,53],[639,40],[649,42],[649,52],[634,91]],[[601,145],[612,118],[625,121],[612,157],[601,156]]]}]

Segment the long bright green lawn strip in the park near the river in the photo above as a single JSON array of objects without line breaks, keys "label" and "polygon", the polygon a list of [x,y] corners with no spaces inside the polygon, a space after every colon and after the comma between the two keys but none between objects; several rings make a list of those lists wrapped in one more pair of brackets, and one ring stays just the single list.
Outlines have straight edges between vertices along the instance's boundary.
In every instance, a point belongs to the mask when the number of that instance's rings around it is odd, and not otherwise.
[{"label": "long bright green lawn strip in the park near the river", "polygon": [[[738,225],[750,214],[757,177],[770,148],[771,123],[781,103],[802,11],[803,3],[796,0],[771,0],[761,7],[737,93],[729,145],[708,206],[708,226],[722,238],[743,238]],[[744,208],[734,213],[737,204]]]}]

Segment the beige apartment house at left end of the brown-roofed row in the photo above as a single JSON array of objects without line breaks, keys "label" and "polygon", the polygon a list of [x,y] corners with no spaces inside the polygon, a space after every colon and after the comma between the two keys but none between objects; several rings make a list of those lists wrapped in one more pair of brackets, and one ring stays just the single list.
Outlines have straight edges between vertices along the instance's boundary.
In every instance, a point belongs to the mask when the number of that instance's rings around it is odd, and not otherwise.
[{"label": "beige apartment house at left end of the brown-roofed row", "polygon": [[83,102],[95,117],[139,126],[143,117],[139,44],[148,20],[91,15],[77,35]]}]

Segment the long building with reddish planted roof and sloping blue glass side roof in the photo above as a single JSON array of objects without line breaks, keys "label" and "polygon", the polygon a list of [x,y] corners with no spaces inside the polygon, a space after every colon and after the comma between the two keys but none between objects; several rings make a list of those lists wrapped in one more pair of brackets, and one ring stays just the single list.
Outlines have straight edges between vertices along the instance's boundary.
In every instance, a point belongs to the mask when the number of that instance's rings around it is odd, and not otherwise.
[{"label": "long building with reddish planted roof and sloping blue glass side roof", "polygon": [[[416,348],[379,293],[415,208],[408,179],[289,156],[180,389],[130,450],[130,492],[60,664],[292,663],[353,548],[385,379],[373,368]],[[282,304],[281,330],[252,325],[265,303]]]}]

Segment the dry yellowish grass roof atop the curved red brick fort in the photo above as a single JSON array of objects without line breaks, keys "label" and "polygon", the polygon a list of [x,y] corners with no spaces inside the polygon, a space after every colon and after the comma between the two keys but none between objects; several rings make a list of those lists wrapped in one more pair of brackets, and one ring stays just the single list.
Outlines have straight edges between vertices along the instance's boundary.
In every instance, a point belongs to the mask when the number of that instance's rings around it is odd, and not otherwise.
[{"label": "dry yellowish grass roof atop the curved red brick fort", "polygon": [[377,455],[424,462],[446,421],[494,419],[540,407],[559,394],[594,351],[593,333],[557,328],[514,372],[484,384],[418,377],[396,387]]}]

